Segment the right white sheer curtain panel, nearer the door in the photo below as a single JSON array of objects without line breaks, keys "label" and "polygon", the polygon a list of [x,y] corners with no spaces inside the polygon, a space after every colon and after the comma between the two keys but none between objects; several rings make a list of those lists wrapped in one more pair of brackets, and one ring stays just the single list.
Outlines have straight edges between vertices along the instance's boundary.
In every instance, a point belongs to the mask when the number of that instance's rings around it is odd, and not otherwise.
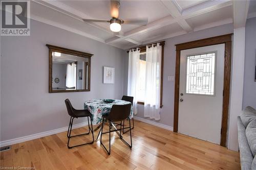
[{"label": "right white sheer curtain panel, nearer the door", "polygon": [[144,101],[144,117],[160,120],[160,77],[161,77],[160,43],[146,46],[146,85]]}]

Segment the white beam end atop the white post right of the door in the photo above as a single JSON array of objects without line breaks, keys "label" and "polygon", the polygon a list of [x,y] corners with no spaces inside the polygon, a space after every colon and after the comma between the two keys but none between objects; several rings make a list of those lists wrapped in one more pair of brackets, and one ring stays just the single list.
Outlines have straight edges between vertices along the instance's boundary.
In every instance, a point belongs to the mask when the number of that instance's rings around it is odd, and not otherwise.
[{"label": "white beam end atop the white post right of the door", "polygon": [[233,22],[234,29],[245,27],[248,9],[249,9],[249,1],[233,1]]}]

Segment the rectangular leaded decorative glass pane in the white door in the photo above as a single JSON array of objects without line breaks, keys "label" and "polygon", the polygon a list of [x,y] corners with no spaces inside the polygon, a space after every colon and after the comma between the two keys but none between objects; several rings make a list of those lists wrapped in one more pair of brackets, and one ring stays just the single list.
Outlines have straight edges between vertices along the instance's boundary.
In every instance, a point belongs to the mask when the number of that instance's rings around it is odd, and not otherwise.
[{"label": "rectangular leaded decorative glass pane in the white door", "polygon": [[187,94],[215,94],[215,63],[216,53],[187,56]]}]

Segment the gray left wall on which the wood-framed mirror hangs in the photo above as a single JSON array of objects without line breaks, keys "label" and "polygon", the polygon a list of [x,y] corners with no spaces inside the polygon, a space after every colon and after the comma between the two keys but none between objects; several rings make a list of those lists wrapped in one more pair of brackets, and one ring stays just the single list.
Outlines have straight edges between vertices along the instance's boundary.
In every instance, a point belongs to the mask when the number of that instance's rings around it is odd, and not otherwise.
[{"label": "gray left wall on which the wood-framed mirror hangs", "polygon": [[[91,91],[48,93],[48,47],[52,44],[94,54]],[[31,20],[31,36],[1,37],[1,141],[68,126],[64,100],[75,108],[91,99],[120,99],[124,51]],[[115,84],[103,84],[103,66],[115,67]],[[86,119],[75,119],[74,123]]]}]

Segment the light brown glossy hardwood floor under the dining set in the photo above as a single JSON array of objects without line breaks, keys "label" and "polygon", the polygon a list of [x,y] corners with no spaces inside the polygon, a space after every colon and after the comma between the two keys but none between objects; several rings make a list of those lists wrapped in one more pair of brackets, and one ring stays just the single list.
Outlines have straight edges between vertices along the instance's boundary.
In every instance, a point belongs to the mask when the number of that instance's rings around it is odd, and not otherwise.
[{"label": "light brown glossy hardwood floor under the dining set", "polygon": [[[75,129],[73,134],[87,131]],[[95,128],[95,127],[94,127]],[[97,137],[98,130],[94,133]],[[123,135],[129,142],[130,134]],[[108,134],[102,140],[108,146]],[[240,169],[238,152],[203,140],[174,133],[135,121],[133,148],[127,147],[112,133],[111,155],[100,146],[67,148],[67,132],[14,144],[1,152],[1,167],[35,167],[35,169]],[[88,142],[91,136],[71,139],[71,144]]]}]

